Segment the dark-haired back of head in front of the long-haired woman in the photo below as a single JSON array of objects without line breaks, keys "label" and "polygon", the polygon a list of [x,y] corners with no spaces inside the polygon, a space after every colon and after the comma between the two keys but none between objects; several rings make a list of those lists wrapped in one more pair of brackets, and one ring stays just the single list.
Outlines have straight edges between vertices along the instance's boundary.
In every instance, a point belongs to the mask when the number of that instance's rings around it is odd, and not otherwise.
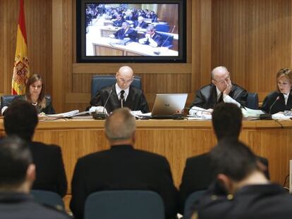
[{"label": "dark-haired back of head in front of the long-haired woman", "polygon": [[31,141],[37,123],[37,110],[28,101],[14,101],[5,111],[4,128],[8,135]]}]

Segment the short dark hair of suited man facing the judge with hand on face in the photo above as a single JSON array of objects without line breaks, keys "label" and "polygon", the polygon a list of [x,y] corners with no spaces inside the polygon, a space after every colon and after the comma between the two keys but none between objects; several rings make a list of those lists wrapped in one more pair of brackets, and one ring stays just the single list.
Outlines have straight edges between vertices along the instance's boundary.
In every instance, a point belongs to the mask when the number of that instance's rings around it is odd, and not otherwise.
[{"label": "short dark hair of suited man facing the judge with hand on face", "polygon": [[238,139],[241,132],[243,114],[235,104],[220,103],[212,113],[212,124],[218,140],[225,137]]}]

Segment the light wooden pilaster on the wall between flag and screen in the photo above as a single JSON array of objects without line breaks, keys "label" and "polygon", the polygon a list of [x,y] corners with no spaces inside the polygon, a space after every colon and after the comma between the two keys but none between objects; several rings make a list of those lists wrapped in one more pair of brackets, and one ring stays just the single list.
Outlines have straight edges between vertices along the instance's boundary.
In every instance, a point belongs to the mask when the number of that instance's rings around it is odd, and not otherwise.
[{"label": "light wooden pilaster on the wall between flag and screen", "polygon": [[56,112],[64,111],[66,92],[72,82],[72,9],[71,0],[52,0],[52,99]]}]

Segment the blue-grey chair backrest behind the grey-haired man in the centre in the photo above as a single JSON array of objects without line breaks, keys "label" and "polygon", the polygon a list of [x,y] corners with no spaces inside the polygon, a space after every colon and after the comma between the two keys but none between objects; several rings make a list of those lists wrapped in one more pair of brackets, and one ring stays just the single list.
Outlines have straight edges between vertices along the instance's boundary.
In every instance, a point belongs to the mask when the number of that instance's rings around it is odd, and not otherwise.
[{"label": "blue-grey chair backrest behind the grey-haired man in the centre", "polygon": [[94,192],[85,201],[85,219],[162,219],[164,203],[156,192],[116,190]]}]

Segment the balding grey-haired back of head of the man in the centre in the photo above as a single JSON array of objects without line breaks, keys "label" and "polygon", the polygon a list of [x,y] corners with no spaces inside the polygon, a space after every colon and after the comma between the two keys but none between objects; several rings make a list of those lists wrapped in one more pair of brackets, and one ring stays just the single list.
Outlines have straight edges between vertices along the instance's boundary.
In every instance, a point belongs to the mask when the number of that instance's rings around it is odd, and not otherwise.
[{"label": "balding grey-haired back of head of the man in the centre", "polygon": [[129,108],[118,108],[109,115],[104,127],[110,142],[131,139],[136,127],[135,118]]}]

